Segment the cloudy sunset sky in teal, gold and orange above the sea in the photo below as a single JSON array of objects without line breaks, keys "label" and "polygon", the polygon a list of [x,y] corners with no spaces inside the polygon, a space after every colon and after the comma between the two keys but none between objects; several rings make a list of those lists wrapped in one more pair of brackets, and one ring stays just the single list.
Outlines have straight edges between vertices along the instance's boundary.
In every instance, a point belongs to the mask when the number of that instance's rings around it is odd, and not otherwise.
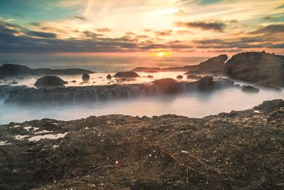
[{"label": "cloudy sunset sky in teal, gold and orange above the sea", "polygon": [[0,53],[283,55],[283,36],[279,0],[0,1]]}]

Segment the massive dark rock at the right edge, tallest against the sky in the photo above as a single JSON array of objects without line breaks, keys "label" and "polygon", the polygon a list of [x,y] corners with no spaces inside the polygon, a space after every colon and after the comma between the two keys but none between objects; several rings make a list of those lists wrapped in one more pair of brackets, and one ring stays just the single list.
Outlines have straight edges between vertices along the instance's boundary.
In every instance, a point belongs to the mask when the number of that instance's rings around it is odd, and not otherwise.
[{"label": "massive dark rock at the right edge, tallest against the sky", "polygon": [[226,62],[230,78],[263,87],[284,87],[284,56],[266,52],[238,53]]}]

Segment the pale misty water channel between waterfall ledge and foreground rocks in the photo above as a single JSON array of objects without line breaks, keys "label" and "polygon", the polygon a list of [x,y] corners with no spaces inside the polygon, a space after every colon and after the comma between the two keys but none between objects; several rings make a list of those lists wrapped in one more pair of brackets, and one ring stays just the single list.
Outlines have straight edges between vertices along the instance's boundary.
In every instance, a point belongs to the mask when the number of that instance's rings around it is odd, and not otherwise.
[{"label": "pale misty water channel between waterfall ledge and foreground rocks", "polygon": [[164,115],[204,117],[231,110],[246,110],[265,100],[283,99],[283,93],[261,90],[244,93],[238,88],[226,88],[212,93],[187,93],[155,97],[127,98],[89,104],[16,106],[0,104],[0,124],[42,118],[76,120],[91,115]]}]

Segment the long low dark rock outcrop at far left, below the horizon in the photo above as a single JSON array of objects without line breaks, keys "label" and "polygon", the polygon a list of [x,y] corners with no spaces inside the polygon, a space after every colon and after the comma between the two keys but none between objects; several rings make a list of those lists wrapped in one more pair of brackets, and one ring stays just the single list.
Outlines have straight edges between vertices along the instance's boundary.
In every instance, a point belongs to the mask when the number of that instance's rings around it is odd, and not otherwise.
[{"label": "long low dark rock outcrop at far left, below the horizon", "polygon": [[82,75],[83,73],[94,73],[91,70],[81,68],[29,68],[25,65],[3,64],[0,66],[0,75],[18,76],[18,75]]}]

